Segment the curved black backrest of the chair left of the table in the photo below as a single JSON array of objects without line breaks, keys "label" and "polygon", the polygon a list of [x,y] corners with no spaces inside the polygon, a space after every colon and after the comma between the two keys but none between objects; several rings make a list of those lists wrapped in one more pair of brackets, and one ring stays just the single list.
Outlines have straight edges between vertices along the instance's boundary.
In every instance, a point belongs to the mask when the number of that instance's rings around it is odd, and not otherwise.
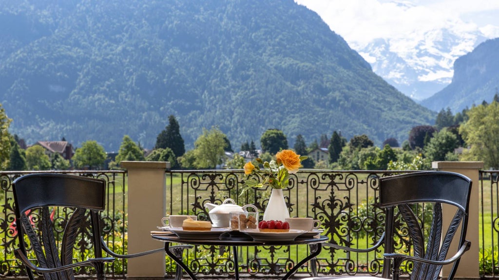
[{"label": "curved black backrest of the chair left of the table", "polygon": [[[99,211],[105,209],[105,186],[101,179],[58,173],[39,173],[21,176],[12,183],[15,202],[15,218],[19,248],[26,254],[24,237],[38,261],[39,267],[57,268],[71,264],[75,242],[81,241],[81,232],[90,233],[94,257],[102,257],[100,244]],[[51,214],[54,207],[65,208],[67,221],[58,249],[58,233],[54,234]],[[50,209],[52,208],[52,209]],[[90,216],[90,225],[88,225]],[[88,226],[88,228],[87,228]],[[60,254],[60,257],[59,257]],[[34,280],[33,272],[26,267],[28,277]],[[47,280],[72,280],[72,270],[43,274]]]}]

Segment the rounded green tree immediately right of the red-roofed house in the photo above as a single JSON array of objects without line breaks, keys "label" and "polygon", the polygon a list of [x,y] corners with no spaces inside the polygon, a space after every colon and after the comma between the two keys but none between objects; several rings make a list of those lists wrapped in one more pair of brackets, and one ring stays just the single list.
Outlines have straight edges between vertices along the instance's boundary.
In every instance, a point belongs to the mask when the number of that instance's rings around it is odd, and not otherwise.
[{"label": "rounded green tree immediately right of the red-roofed house", "polygon": [[76,168],[98,169],[104,166],[106,151],[97,141],[88,140],[76,149],[72,159]]}]

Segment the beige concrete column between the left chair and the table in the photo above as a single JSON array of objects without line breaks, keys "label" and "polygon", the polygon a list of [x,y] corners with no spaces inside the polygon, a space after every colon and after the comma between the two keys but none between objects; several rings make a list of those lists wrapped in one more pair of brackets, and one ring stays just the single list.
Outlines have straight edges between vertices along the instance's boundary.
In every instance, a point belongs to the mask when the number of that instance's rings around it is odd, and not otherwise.
[{"label": "beige concrete column between the left chair and the table", "polygon": [[[128,170],[128,253],[161,248],[150,231],[157,230],[166,212],[166,174],[170,162],[121,161]],[[165,276],[165,253],[128,259],[127,279]]]}]

